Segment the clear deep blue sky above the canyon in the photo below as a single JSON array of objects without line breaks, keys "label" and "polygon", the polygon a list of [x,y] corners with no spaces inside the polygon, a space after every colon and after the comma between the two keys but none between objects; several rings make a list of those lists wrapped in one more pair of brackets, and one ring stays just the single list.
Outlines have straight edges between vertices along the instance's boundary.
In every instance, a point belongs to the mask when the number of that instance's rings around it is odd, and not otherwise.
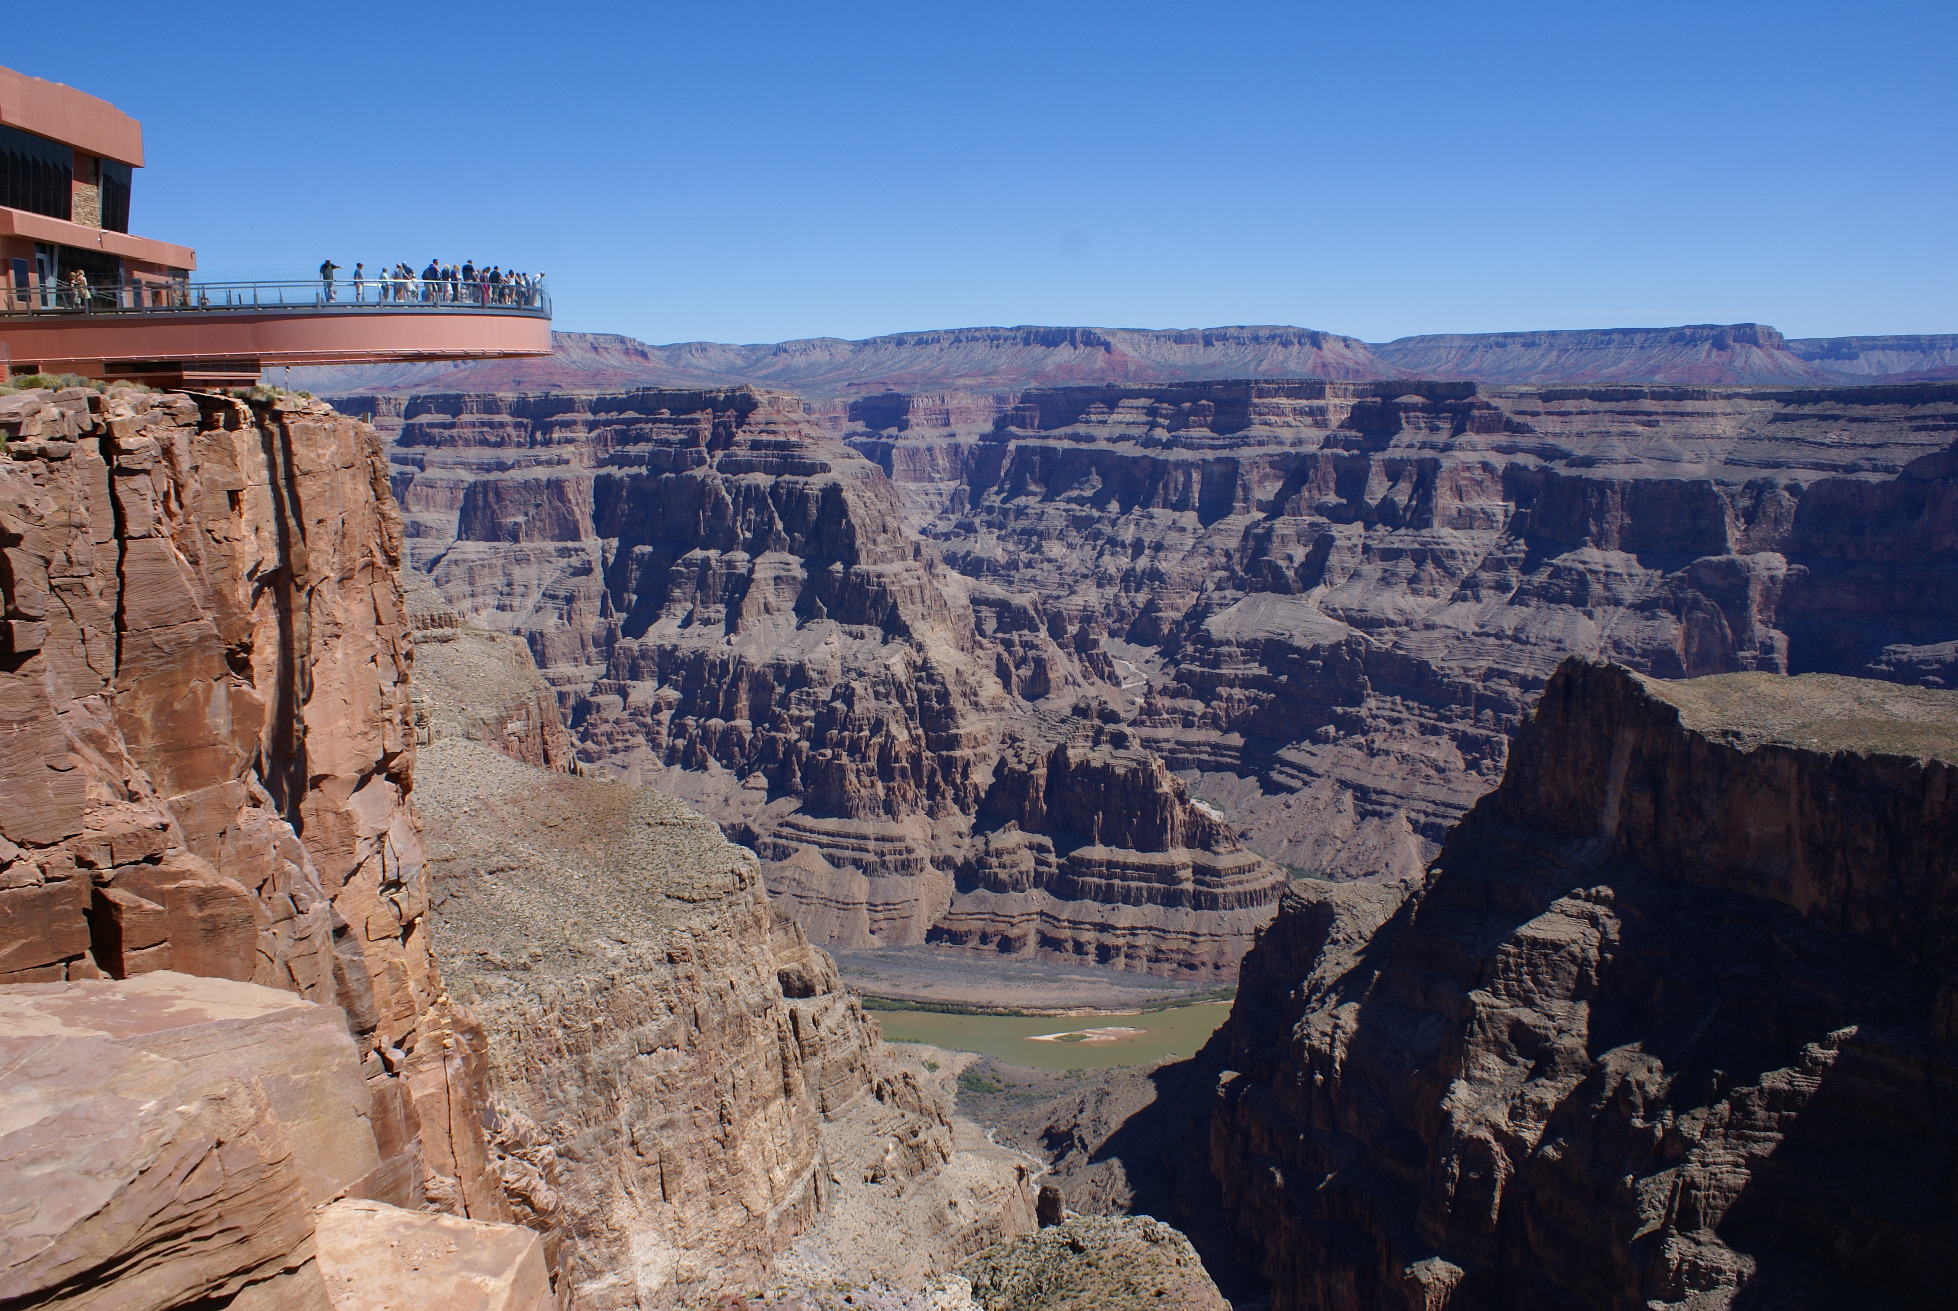
[{"label": "clear deep blue sky above the canyon", "polygon": [[[110,31],[176,31],[121,53]],[[1958,331],[1958,4],[76,4],[204,270],[558,327]],[[343,274],[345,276],[345,274]]]}]

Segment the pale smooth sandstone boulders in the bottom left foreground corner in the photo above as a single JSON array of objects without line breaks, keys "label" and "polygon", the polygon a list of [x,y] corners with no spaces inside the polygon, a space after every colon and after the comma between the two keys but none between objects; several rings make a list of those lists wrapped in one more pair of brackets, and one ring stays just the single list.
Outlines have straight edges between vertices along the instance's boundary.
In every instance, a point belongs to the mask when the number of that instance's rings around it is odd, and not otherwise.
[{"label": "pale smooth sandstone boulders in the bottom left foreground corner", "polygon": [[531,1229],[360,1193],[386,1107],[339,1007],[153,970],[0,990],[20,1307],[556,1305]]}]

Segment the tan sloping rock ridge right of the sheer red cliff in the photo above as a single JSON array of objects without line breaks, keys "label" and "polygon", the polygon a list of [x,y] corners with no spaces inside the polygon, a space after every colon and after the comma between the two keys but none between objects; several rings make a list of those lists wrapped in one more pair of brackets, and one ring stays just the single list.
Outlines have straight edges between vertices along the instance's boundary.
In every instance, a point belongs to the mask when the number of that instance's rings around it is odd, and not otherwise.
[{"label": "tan sloping rock ridge right of the sheer red cliff", "polygon": [[[474,704],[509,643],[417,647],[429,721]],[[752,852],[658,792],[515,754],[437,735],[415,796],[437,948],[490,1037],[505,1184],[562,1211],[582,1307],[756,1287],[860,1195],[891,1195],[893,1223],[959,1221],[910,1244],[918,1278],[1032,1225],[1026,1166],[954,1141]]]}]

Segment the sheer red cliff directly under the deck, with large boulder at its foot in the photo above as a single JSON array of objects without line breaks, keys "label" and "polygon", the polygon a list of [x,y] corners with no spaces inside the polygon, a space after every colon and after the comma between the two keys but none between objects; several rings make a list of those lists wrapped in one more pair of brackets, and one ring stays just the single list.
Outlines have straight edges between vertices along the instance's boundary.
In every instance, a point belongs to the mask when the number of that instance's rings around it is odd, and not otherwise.
[{"label": "sheer red cliff directly under the deck, with large boulder at its foot", "polygon": [[[374,431],[317,402],[72,388],[0,398],[0,992],[33,1072],[4,1152],[127,1182],[102,1215],[29,1191],[0,1297],[176,1305],[284,1280],[313,1305],[309,1207],[333,1195],[515,1219],[484,1039],[429,954],[401,525]],[[294,1070],[223,1037],[260,1019],[300,1035]],[[76,1109],[74,1062],[121,1090],[147,1148],[37,1156],[47,1125],[108,1113]],[[307,1078],[333,1092],[282,1099]],[[157,1109],[166,1086],[176,1111]],[[307,1117],[335,1099],[315,1156]],[[163,1142],[192,1156],[139,1176]],[[235,1195],[206,1188],[196,1150],[229,1162]],[[170,1246],[211,1205],[198,1223],[231,1237]]]}]

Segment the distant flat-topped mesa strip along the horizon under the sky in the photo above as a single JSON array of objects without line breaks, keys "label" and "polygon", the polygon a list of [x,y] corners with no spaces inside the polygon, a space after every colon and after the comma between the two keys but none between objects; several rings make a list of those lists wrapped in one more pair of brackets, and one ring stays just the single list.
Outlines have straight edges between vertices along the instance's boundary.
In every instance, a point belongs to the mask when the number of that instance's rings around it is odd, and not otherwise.
[{"label": "distant flat-topped mesa strip along the horizon under the sky", "polygon": [[294,368],[313,392],[550,392],[764,386],[811,400],[885,392],[1210,378],[1467,378],[1484,384],[1842,386],[1958,378],[1958,333],[1811,337],[1766,323],[1443,333],[1369,345],[1308,327],[952,327],[844,341],[648,345],[552,333],[548,359]]}]

